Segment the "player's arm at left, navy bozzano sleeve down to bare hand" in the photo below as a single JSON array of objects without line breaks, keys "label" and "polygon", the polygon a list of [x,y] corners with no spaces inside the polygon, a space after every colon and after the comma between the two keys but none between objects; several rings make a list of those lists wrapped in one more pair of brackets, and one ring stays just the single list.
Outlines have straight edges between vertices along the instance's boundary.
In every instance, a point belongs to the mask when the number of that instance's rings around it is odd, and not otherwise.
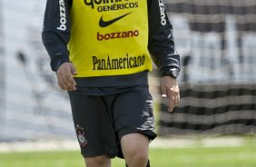
[{"label": "player's arm at left, navy bozzano sleeve down to bare hand", "polygon": [[43,44],[51,58],[51,68],[57,74],[63,90],[75,90],[74,65],[70,63],[67,44],[70,40],[70,8],[72,0],[47,0],[44,13]]}]

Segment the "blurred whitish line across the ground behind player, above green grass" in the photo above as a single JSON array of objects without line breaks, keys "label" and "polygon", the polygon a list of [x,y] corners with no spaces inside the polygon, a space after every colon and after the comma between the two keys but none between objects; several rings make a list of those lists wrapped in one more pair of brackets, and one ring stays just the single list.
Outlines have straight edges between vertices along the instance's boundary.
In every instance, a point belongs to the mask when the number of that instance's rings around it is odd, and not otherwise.
[{"label": "blurred whitish line across the ground behind player, above green grass", "polygon": [[[256,143],[256,142],[255,142]],[[150,148],[195,148],[195,147],[237,147],[246,144],[242,137],[178,139],[157,138]],[[0,142],[0,152],[42,152],[42,151],[79,151],[74,140],[45,140],[35,142]]]}]

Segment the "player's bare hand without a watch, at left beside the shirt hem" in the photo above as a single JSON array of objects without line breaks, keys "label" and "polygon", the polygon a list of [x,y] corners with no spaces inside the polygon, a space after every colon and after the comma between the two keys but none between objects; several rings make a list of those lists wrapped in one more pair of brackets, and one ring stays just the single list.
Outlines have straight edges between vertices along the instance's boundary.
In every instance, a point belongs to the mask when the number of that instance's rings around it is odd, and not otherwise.
[{"label": "player's bare hand without a watch, at left beside the shirt hem", "polygon": [[58,84],[64,91],[75,91],[76,83],[73,76],[76,75],[74,65],[71,62],[61,64],[56,72]]}]

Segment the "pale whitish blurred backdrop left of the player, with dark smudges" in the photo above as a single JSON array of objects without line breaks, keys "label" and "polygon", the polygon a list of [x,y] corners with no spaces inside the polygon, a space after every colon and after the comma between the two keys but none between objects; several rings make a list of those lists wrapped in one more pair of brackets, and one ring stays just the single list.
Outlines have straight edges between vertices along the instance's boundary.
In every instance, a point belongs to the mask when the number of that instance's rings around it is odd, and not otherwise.
[{"label": "pale whitish blurred backdrop left of the player, with dark smudges", "polygon": [[73,138],[67,93],[41,40],[45,0],[0,4],[0,141]]}]

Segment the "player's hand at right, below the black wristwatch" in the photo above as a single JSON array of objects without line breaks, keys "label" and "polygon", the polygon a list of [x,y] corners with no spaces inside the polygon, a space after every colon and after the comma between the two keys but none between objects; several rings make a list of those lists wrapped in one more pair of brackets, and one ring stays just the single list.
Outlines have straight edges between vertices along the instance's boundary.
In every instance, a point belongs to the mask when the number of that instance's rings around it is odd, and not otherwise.
[{"label": "player's hand at right, below the black wristwatch", "polygon": [[174,107],[180,103],[180,89],[178,82],[171,76],[162,76],[162,98],[167,98],[169,103],[168,112],[172,112]]}]

